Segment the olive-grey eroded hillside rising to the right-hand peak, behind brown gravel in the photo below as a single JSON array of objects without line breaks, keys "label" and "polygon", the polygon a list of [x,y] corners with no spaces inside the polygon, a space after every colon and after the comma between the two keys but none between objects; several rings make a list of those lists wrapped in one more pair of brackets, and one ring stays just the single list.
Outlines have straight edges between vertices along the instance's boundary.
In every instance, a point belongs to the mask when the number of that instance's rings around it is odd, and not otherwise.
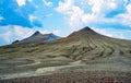
[{"label": "olive-grey eroded hillside rising to the right-hand peak, behind brown gravel", "polygon": [[100,75],[108,76],[116,75],[110,72],[131,72],[131,40],[84,27],[53,43],[0,47],[1,79],[95,71],[105,71]]}]

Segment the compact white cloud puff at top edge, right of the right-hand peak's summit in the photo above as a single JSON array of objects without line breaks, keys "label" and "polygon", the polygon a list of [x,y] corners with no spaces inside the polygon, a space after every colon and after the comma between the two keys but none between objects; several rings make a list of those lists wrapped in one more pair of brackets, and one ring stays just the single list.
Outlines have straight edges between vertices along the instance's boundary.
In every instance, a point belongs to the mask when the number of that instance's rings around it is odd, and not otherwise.
[{"label": "compact white cloud puff at top edge, right of the right-hand peak's summit", "polygon": [[106,13],[117,9],[115,0],[88,0],[92,13],[96,15],[105,15]]}]

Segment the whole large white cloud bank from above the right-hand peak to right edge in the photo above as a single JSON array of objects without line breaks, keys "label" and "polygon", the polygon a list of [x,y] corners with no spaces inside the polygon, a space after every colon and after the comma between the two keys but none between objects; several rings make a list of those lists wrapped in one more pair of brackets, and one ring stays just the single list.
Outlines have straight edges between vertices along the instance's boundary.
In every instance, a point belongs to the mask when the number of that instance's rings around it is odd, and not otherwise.
[{"label": "whole large white cloud bank from above the right-hand peak to right edge", "polygon": [[[59,1],[56,11],[64,15],[66,20],[68,20],[66,22],[71,27],[103,22],[131,25],[130,4],[126,8],[127,13],[106,17],[111,11],[124,9],[127,0],[64,0],[63,2]],[[83,9],[81,4],[88,8]]]}]

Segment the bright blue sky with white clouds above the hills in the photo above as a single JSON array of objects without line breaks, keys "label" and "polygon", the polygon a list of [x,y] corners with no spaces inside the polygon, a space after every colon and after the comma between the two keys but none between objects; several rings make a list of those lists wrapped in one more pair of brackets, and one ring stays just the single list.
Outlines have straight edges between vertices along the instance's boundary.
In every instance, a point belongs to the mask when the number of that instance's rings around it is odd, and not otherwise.
[{"label": "bright blue sky with white clouds above the hills", "polygon": [[131,39],[131,0],[0,0],[0,46],[35,31],[64,37],[84,26]]}]

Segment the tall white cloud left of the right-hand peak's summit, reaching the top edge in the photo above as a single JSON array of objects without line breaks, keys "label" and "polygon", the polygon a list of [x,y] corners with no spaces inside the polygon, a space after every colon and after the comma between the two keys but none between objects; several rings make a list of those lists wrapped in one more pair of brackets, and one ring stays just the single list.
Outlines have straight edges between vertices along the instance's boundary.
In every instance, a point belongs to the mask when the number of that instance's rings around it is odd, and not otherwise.
[{"label": "tall white cloud left of the right-hand peak's summit, reaching the top edge", "polygon": [[84,13],[81,8],[74,5],[74,0],[66,0],[66,2],[59,2],[59,7],[56,8],[56,11],[68,15],[69,24],[72,26],[73,24],[78,24],[81,22],[81,17]]}]

